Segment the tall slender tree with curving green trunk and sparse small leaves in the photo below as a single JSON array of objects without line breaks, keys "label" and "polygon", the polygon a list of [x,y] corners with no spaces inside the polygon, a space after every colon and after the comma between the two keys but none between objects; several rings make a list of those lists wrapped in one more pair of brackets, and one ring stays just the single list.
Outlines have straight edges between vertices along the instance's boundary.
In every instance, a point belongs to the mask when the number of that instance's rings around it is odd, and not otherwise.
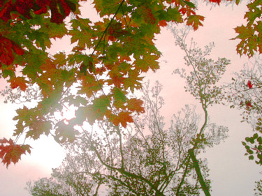
[{"label": "tall slender tree with curving green trunk and sparse small leaves", "polygon": [[[210,191],[201,174],[194,149],[201,149],[203,145],[209,144],[207,140],[208,135],[205,133],[206,128],[211,127],[211,130],[212,128],[218,130],[218,136],[220,133],[225,133],[226,130],[228,130],[224,126],[216,126],[215,124],[210,124],[211,126],[208,125],[208,106],[220,103],[224,97],[221,93],[222,86],[217,86],[217,82],[219,82],[221,75],[224,74],[226,66],[229,64],[229,60],[219,58],[214,62],[212,59],[206,59],[206,56],[210,55],[212,45],[205,46],[205,50],[203,51],[201,48],[197,47],[196,43],[191,39],[190,46],[188,47],[186,38],[190,31],[189,27],[178,30],[170,26],[170,29],[175,37],[175,44],[184,50],[186,54],[184,56],[184,60],[186,61],[185,64],[191,68],[189,75],[187,75],[184,68],[182,70],[177,68],[174,73],[179,74],[180,77],[186,80],[187,86],[184,86],[186,91],[189,91],[196,100],[200,100],[201,107],[205,113],[203,126],[200,128],[197,137],[194,138],[194,146],[189,149],[188,153],[194,163],[198,180],[201,183],[201,188],[205,196],[209,196]],[[213,131],[212,133],[214,134]],[[210,145],[213,145],[213,142]]]}]

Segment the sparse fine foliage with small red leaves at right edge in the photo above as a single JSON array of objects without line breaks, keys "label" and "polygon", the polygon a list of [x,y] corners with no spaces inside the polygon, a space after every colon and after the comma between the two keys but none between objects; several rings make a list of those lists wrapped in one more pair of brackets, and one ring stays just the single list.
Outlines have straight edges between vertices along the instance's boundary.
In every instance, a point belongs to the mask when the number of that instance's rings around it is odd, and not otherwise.
[{"label": "sparse fine foliage with small red leaves at right edge", "polygon": [[262,59],[259,56],[245,63],[240,73],[234,73],[228,85],[231,108],[242,110],[242,121],[255,124],[261,116]]}]

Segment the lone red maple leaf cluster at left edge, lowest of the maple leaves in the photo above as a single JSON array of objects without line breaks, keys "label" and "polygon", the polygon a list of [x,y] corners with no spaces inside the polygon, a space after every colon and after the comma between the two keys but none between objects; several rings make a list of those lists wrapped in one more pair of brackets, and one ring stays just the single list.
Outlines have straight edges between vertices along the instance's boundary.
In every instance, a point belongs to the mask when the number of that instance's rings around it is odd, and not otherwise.
[{"label": "lone red maple leaf cluster at left edge, lowest of the maple leaves", "polygon": [[3,165],[6,164],[6,167],[10,163],[17,163],[21,159],[22,154],[31,153],[31,146],[29,145],[19,145],[15,144],[13,140],[6,140],[3,138],[0,140],[0,158],[2,159]]}]

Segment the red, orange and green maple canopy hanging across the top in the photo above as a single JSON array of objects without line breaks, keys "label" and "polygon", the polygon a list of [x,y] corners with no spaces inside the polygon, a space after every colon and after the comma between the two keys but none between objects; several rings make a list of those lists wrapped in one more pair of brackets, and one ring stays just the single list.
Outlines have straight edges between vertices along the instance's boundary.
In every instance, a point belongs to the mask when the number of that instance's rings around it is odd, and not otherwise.
[{"label": "red, orange and green maple canopy hanging across the top", "polygon": [[[94,0],[101,19],[92,22],[81,17],[80,3],[0,2],[0,77],[11,89],[22,91],[26,101],[36,100],[34,107],[25,103],[16,111],[16,139],[0,140],[0,158],[7,167],[31,151],[31,146],[18,144],[20,135],[34,140],[53,135],[63,143],[73,142],[78,135],[74,127],[86,120],[92,125],[107,119],[126,128],[133,122],[133,113],[145,112],[143,101],[132,96],[141,88],[141,74],[159,68],[161,53],[153,42],[156,33],[168,22],[185,22],[196,30],[204,20],[190,1]],[[254,51],[261,53],[261,1],[247,6],[247,26],[235,28],[241,40],[237,52],[252,56]],[[51,40],[64,36],[75,43],[73,50],[48,53]],[[31,93],[34,88],[39,93]],[[77,110],[66,125],[62,114],[68,105]]]}]

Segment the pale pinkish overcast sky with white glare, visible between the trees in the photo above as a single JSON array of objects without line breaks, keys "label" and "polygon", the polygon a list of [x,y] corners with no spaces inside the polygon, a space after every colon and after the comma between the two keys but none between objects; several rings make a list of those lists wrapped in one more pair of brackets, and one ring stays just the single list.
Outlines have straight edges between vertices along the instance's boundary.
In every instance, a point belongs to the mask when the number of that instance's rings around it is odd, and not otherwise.
[{"label": "pale pinkish overcast sky with white glare, visible between the trees", "polygon": [[[216,45],[212,51],[212,57],[226,57],[231,59],[228,66],[224,82],[229,81],[231,73],[240,70],[247,61],[247,57],[238,56],[235,46],[238,40],[230,40],[236,36],[233,28],[245,23],[243,16],[246,11],[245,4],[240,6],[215,6],[210,10],[210,6],[199,6],[199,13],[205,16],[204,27],[189,35],[200,45],[208,45],[213,42]],[[86,9],[87,10],[87,9]],[[89,9],[88,9],[89,10]],[[94,12],[88,11],[85,17],[95,17]],[[184,92],[183,80],[179,75],[172,75],[175,68],[184,66],[184,53],[176,47],[175,39],[170,31],[163,29],[157,36],[156,45],[162,52],[161,69],[157,73],[149,73],[145,80],[159,80],[163,84],[162,96],[166,105],[163,107],[163,114],[167,119],[179,111],[186,104],[193,104],[199,109],[200,105],[188,93]],[[59,40],[52,47],[52,51],[70,50],[67,45],[68,40]],[[1,88],[5,82],[0,80]],[[9,138],[15,128],[12,121],[15,115],[15,105],[3,104],[0,97],[0,137]],[[201,113],[201,110],[197,110]],[[208,158],[210,168],[210,179],[212,179],[213,196],[248,196],[253,195],[254,181],[261,179],[262,169],[254,161],[249,161],[244,156],[245,149],[241,144],[245,137],[252,135],[252,129],[246,123],[240,123],[240,112],[229,110],[225,106],[214,106],[210,108],[210,119],[219,125],[228,126],[229,137],[226,142],[208,149],[207,153],[201,155]],[[203,116],[203,115],[202,115]],[[10,165],[8,169],[0,166],[0,195],[3,196],[27,196],[29,195],[24,186],[26,182],[36,180],[45,176],[50,176],[51,168],[58,167],[64,158],[62,149],[48,137],[41,137],[36,142],[31,142],[31,156],[22,156],[22,160],[17,165]]]}]

